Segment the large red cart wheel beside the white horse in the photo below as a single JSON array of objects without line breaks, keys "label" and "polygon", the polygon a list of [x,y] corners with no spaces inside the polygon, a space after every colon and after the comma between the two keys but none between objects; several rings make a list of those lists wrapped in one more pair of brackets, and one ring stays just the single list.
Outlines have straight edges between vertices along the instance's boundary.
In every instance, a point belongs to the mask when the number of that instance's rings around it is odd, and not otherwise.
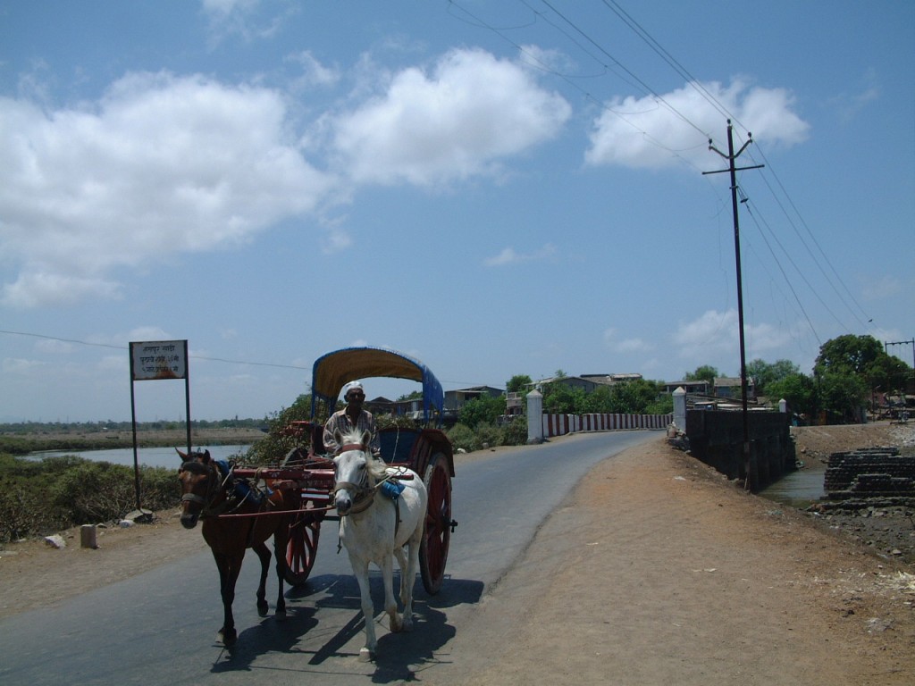
[{"label": "large red cart wheel beside the white horse", "polygon": [[419,546],[419,571],[426,593],[436,595],[445,579],[452,527],[451,474],[444,454],[432,456],[425,468],[423,481],[429,502],[425,514],[425,534]]}]

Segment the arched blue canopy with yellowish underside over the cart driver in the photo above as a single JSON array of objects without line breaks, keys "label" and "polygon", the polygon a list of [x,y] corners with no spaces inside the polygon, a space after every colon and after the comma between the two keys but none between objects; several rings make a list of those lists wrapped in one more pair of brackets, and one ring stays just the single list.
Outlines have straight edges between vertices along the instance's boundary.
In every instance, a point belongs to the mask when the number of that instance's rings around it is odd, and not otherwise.
[{"label": "arched blue canopy with yellowish underside over the cart driver", "polygon": [[327,402],[328,412],[333,413],[346,383],[372,377],[421,382],[425,422],[434,408],[436,423],[441,423],[445,391],[435,375],[418,359],[388,348],[342,348],[316,359],[311,373],[311,416],[315,416],[318,400]]}]

